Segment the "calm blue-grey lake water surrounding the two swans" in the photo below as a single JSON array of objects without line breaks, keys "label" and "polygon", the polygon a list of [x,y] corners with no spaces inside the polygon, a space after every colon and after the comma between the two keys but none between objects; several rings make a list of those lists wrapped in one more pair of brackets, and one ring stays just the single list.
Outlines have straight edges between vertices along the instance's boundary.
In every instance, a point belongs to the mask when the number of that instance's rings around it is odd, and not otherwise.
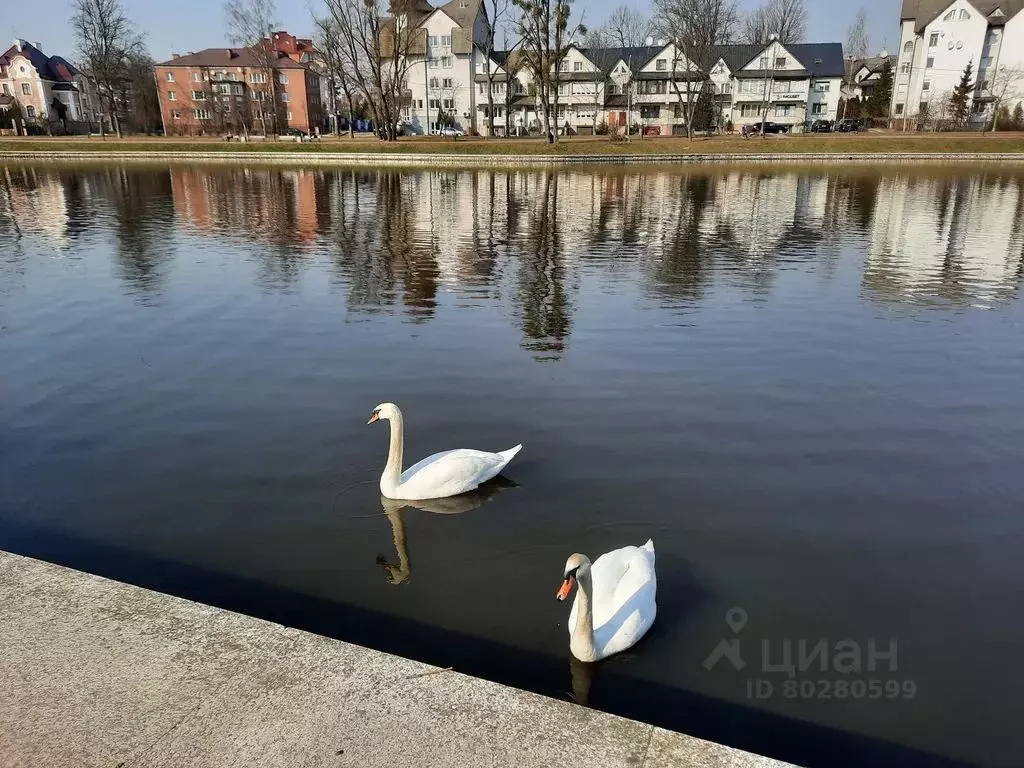
[{"label": "calm blue-grey lake water surrounding the two swans", "polygon": [[[800,763],[1020,766],[1022,281],[1013,170],[8,164],[0,547]],[[524,449],[382,503],[382,400],[409,463]],[[653,630],[571,665],[565,558],[648,537]]]}]

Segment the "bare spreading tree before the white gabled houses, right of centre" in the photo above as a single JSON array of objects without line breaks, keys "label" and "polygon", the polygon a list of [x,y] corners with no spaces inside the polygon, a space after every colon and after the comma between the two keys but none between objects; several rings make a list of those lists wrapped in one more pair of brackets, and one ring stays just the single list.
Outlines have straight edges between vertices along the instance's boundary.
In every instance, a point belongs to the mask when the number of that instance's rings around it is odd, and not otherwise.
[{"label": "bare spreading tree before the white gabled houses, right of centre", "polygon": [[711,70],[720,46],[733,39],[739,13],[732,0],[654,0],[654,24],[673,43],[670,82],[692,139],[697,105],[714,89]]}]

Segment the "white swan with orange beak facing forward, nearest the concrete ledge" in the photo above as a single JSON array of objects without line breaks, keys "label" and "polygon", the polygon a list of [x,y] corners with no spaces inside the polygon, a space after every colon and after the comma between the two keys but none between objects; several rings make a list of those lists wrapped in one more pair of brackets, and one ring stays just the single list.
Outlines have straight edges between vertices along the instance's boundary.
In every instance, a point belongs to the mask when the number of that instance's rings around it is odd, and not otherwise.
[{"label": "white swan with orange beak facing forward, nearest the concrete ledge", "polygon": [[654,542],[606,552],[591,564],[569,555],[556,597],[580,585],[569,612],[569,650],[581,662],[599,662],[635,645],[657,615]]}]

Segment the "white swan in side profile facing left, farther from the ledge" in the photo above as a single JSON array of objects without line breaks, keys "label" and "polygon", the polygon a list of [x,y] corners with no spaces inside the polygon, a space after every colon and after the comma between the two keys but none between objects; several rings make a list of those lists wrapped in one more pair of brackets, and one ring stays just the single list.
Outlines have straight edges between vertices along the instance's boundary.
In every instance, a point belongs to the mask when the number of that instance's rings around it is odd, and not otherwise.
[{"label": "white swan in side profile facing left, farther from the ledge", "polygon": [[393,402],[382,402],[374,409],[367,424],[380,419],[391,422],[391,447],[381,475],[381,494],[388,499],[443,499],[465,494],[496,477],[522,449],[519,444],[498,454],[472,449],[442,451],[402,472],[406,436],[401,411]]}]

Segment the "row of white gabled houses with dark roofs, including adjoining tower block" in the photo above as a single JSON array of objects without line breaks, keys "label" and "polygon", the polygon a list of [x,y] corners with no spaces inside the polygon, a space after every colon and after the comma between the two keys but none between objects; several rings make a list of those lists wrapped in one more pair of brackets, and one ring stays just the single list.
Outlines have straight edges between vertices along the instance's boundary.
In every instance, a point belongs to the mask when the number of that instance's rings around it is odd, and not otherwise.
[{"label": "row of white gabled houses with dark roofs, including adjoining tower block", "polygon": [[[486,10],[481,0],[395,0],[392,12],[419,30],[406,61],[404,120],[414,133],[432,133],[454,122],[467,132],[489,130],[488,73],[494,74],[495,133],[537,131],[543,104],[519,52],[483,52]],[[742,126],[762,119],[790,126],[835,119],[843,83],[840,43],[727,45],[701,73],[673,44],[638,48],[570,46],[551,76],[551,126],[560,133],[593,133],[601,124],[641,126],[645,133],[685,131],[685,105],[710,80],[720,123]]]}]

